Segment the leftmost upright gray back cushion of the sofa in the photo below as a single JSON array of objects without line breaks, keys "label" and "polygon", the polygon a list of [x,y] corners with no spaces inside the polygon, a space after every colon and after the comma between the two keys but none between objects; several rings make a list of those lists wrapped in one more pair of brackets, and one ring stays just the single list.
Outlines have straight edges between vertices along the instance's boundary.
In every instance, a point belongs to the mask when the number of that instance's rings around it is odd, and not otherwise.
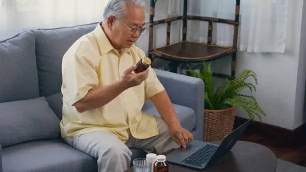
[{"label": "leftmost upright gray back cushion of the sofa", "polygon": [[24,31],[0,41],[0,102],[38,96],[35,34]]}]

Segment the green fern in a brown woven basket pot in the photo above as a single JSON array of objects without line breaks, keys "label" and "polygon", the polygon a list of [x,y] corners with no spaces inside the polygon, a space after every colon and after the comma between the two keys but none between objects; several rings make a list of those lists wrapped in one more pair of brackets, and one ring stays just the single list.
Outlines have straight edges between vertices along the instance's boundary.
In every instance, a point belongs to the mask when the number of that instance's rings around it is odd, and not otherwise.
[{"label": "green fern in a brown woven basket pot", "polygon": [[[205,107],[204,107],[204,136],[205,141],[222,140],[226,134],[232,131],[236,107],[242,108],[250,118],[257,116],[261,122],[261,116],[266,115],[258,105],[256,98],[252,95],[256,91],[257,75],[252,70],[244,69],[236,78],[225,79],[216,84],[212,76],[210,63],[203,62],[203,69],[193,70],[189,65],[187,73],[190,76],[198,77],[205,84]],[[252,77],[255,85],[246,82]],[[247,88],[249,95],[241,91]]]}]

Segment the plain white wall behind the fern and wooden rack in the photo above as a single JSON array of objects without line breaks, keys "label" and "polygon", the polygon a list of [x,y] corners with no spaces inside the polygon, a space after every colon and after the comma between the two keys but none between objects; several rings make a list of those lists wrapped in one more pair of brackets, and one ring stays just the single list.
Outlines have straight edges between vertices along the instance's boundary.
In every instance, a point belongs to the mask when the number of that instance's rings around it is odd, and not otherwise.
[{"label": "plain white wall behind the fern and wooden rack", "polygon": [[[148,1],[148,0],[147,0]],[[167,1],[157,1],[159,10],[165,12]],[[294,0],[289,11],[292,19],[289,20],[287,33],[288,47],[286,52],[280,53],[245,53],[237,55],[236,73],[248,68],[258,75],[258,85],[255,96],[267,116],[263,122],[294,129],[306,122],[304,115],[304,90],[306,76],[306,9],[303,0]],[[161,10],[164,6],[163,10]],[[303,14],[303,16],[302,16]],[[176,26],[176,27],[175,27]],[[179,24],[171,25],[171,40],[179,40]],[[165,25],[155,26],[154,46],[165,44]],[[147,52],[148,31],[141,35],[136,45]],[[223,58],[212,63],[215,71],[230,73],[230,58]],[[237,116],[247,117],[246,113],[237,110]]]}]

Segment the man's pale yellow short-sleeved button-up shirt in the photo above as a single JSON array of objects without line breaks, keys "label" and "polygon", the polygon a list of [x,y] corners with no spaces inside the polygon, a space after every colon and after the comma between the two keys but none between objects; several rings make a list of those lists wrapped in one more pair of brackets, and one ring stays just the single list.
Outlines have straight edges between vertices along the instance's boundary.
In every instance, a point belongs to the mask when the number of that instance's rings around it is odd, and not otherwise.
[{"label": "man's pale yellow short-sleeved button-up shirt", "polygon": [[125,142],[130,134],[139,139],[157,135],[154,116],[141,111],[146,99],[164,90],[152,68],[149,68],[148,77],[141,84],[124,90],[99,108],[80,113],[72,105],[84,97],[89,89],[119,80],[126,68],[144,56],[145,53],[135,45],[119,54],[100,24],[75,41],[62,59],[61,136],[106,131]]}]

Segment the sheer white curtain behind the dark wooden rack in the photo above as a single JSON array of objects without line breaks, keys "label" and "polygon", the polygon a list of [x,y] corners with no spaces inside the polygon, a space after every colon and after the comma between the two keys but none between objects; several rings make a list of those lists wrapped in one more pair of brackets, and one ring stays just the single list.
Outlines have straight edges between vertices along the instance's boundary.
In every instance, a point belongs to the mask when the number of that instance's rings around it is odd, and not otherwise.
[{"label": "sheer white curtain behind the dark wooden rack", "polygon": [[[182,0],[174,0],[182,4]],[[293,1],[293,0],[291,0]],[[240,0],[238,48],[246,52],[284,52],[290,0]],[[188,15],[234,19],[235,0],[188,0]],[[176,8],[182,12],[182,6]],[[208,23],[188,21],[187,39],[207,41]],[[233,26],[215,23],[213,41],[231,46]]]}]

